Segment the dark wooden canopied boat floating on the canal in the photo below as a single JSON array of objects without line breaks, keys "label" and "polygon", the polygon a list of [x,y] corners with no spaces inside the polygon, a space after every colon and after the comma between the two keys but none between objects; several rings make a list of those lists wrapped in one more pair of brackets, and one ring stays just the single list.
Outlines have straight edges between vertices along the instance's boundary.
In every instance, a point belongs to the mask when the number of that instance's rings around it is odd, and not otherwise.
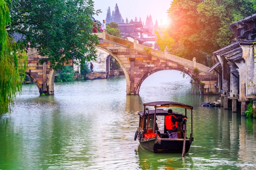
[{"label": "dark wooden canopied boat floating on the canal", "polygon": [[[193,106],[177,102],[150,102],[143,104],[144,111],[139,114],[139,127],[135,132],[134,140],[138,139],[140,145],[154,153],[182,153],[189,151],[193,141],[192,129],[192,110]],[[149,109],[149,108],[152,109]],[[174,112],[177,118],[187,117],[187,109],[191,110],[191,133],[189,138],[186,137],[186,120],[178,122],[178,139],[168,138],[168,131],[165,126],[165,118],[168,115],[168,109],[184,108],[184,115]],[[176,108],[174,108],[176,107]],[[182,109],[183,110],[183,109]],[[157,123],[157,124],[156,124]],[[153,126],[153,128],[152,128]],[[159,128],[159,130],[157,130]]]}]

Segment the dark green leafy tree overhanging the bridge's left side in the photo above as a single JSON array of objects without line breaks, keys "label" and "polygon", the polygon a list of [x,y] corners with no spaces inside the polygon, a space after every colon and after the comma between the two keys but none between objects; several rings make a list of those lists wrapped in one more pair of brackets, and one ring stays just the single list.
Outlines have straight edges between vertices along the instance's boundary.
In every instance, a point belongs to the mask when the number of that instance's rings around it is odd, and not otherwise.
[{"label": "dark green leafy tree overhanging the bridge's left side", "polygon": [[[9,32],[20,33],[23,44],[31,43],[47,56],[52,68],[61,68],[74,56],[81,63],[94,60],[98,44],[92,33],[92,0],[13,0]],[[62,50],[60,50],[62,49]]]}]

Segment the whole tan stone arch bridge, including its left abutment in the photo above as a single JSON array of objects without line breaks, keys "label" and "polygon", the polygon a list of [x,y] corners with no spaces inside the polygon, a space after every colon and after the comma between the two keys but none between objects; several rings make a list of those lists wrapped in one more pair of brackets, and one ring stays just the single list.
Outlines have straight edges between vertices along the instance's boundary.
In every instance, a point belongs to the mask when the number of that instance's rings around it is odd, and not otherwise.
[{"label": "whole tan stone arch bridge, including its left abutment", "polygon": [[[200,94],[217,94],[214,86],[217,82],[216,74],[203,64],[186,60],[166,51],[158,51],[147,46],[137,44],[137,40],[130,42],[115,36],[103,33],[95,33],[99,37],[97,49],[106,51],[112,55],[124,70],[126,77],[126,94],[138,95],[142,82],[151,74],[162,70],[177,70],[189,75],[198,85]],[[43,64],[39,60],[43,59]],[[34,49],[27,52],[26,75],[33,82],[41,94],[54,94],[54,76],[56,71],[50,68],[46,57],[38,55]]]}]

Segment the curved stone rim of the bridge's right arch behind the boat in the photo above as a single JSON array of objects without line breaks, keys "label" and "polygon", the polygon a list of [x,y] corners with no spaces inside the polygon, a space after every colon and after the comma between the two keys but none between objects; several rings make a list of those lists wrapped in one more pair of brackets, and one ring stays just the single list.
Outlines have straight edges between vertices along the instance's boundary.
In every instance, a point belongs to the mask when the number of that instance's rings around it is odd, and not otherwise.
[{"label": "curved stone rim of the bridge's right arch behind the boat", "polygon": [[177,71],[180,71],[180,72],[183,72],[183,73],[189,75],[195,81],[195,83],[197,84],[198,89],[200,91],[200,82],[198,81],[198,79],[195,78],[196,76],[194,73],[191,73],[190,71],[188,71],[184,68],[180,68],[180,67],[164,66],[164,67],[155,68],[155,69],[149,71],[148,73],[144,74],[143,77],[141,77],[141,79],[139,80],[137,86],[135,87],[136,94],[137,95],[139,94],[139,88],[140,88],[142,82],[144,82],[144,80],[148,76],[150,76],[153,73],[156,73],[157,71],[163,71],[163,70],[177,70]]}]

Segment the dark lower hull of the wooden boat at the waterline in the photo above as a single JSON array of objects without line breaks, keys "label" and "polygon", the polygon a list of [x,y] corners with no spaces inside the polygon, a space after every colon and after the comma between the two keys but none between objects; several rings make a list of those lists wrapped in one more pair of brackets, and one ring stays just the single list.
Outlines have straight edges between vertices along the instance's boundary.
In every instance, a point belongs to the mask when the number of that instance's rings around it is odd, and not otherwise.
[{"label": "dark lower hull of the wooden boat at the waterline", "polygon": [[[161,138],[161,143],[157,142],[156,138],[141,139],[140,145],[154,153],[182,153],[183,139],[166,139]],[[191,140],[186,139],[185,152],[189,152]]]}]

